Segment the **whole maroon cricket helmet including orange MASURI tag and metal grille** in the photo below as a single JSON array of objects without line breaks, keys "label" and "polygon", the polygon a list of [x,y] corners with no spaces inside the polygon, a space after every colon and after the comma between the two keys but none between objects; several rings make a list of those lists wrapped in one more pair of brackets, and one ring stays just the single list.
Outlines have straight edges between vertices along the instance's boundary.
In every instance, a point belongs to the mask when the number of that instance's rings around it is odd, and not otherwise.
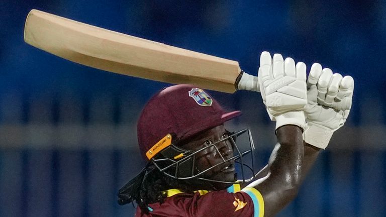
[{"label": "whole maroon cricket helmet including orange MASURI tag and metal grille", "polygon": [[[138,120],[137,136],[141,155],[170,177],[222,182],[202,177],[203,173],[218,165],[204,171],[195,171],[195,155],[203,150],[185,150],[179,142],[240,115],[240,111],[226,112],[212,96],[199,87],[180,84],[164,88],[147,102]],[[235,144],[236,137],[243,133],[247,133],[249,139],[249,148],[245,152],[240,151]],[[230,159],[222,157],[223,163],[232,160],[244,165],[242,157],[248,153],[253,155],[254,145],[249,129],[230,133],[227,138],[214,142],[213,147],[203,149],[215,148],[220,153],[216,144],[225,140],[234,146],[236,155]],[[247,167],[253,170],[253,165]],[[244,178],[243,171],[242,174],[243,181],[251,180]]]}]

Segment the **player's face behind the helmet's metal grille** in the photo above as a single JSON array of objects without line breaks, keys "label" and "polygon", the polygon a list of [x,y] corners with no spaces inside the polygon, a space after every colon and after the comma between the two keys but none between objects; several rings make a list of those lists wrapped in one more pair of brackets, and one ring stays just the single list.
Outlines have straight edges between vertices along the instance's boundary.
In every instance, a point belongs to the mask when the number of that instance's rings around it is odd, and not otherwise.
[{"label": "player's face behind the helmet's metal grille", "polygon": [[[189,150],[199,150],[204,147],[210,146],[211,144],[226,138],[229,136],[229,132],[225,130],[223,125],[217,126],[210,130],[207,130],[194,138],[191,138],[190,142],[183,145],[183,148]],[[219,164],[225,160],[233,157],[233,147],[231,142],[225,140],[223,142],[217,143],[216,148],[211,147],[207,148],[196,155],[196,168],[199,171],[204,171],[211,166]],[[223,158],[220,156],[223,156]],[[235,177],[235,162],[233,160],[228,161],[226,163],[220,164],[215,168],[207,171],[204,174],[205,178],[213,179],[213,180],[221,180],[234,182],[236,180]]]}]

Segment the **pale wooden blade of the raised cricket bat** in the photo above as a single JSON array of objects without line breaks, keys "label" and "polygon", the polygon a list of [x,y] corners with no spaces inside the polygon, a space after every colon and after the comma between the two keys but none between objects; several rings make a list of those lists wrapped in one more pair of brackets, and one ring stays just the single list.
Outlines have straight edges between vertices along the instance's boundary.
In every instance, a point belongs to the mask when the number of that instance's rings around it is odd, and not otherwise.
[{"label": "pale wooden blade of the raised cricket bat", "polygon": [[27,16],[24,41],[93,68],[173,84],[194,84],[227,93],[238,89],[243,74],[237,61],[125,35],[38,10],[32,10]]}]

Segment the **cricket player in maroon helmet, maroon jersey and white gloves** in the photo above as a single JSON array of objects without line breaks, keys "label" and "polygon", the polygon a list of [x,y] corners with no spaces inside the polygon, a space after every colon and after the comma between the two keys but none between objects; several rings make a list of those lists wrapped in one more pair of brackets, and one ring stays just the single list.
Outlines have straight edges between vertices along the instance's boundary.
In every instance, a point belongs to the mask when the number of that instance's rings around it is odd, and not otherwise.
[{"label": "cricket player in maroon helmet, maroon jersey and white gloves", "polygon": [[261,217],[274,216],[292,201],[318,154],[344,125],[354,81],[315,63],[306,82],[304,63],[268,52],[260,56],[258,79],[268,116],[276,122],[277,144],[254,181],[247,183],[235,169],[253,153],[252,140],[246,152],[236,142],[250,131],[224,127],[241,112],[225,112],[196,86],[175,85],[155,94],[142,111],[138,143],[148,163],[120,189],[119,203],[136,201],[137,217]]}]

